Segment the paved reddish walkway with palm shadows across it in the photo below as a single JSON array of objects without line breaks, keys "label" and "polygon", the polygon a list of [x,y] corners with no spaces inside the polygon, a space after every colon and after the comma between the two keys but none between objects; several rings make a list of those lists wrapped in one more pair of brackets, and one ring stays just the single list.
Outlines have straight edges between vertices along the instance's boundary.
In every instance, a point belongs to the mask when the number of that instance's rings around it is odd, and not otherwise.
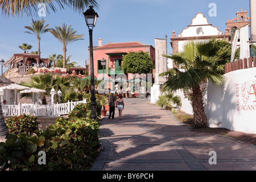
[{"label": "paved reddish walkway with palm shadows across it", "polygon": [[191,131],[148,99],[125,99],[121,121],[117,109],[102,118],[100,141],[91,171],[256,170],[256,147]]}]

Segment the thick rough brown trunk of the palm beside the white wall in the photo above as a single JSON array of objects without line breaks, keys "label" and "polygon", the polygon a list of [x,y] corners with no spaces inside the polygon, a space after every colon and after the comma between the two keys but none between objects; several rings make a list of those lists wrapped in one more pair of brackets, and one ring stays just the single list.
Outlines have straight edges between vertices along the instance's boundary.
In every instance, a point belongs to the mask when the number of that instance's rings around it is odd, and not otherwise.
[{"label": "thick rough brown trunk of the palm beside the white wall", "polygon": [[192,107],[193,107],[193,125],[194,127],[207,127],[207,117],[204,113],[203,95],[200,85],[192,88]]}]

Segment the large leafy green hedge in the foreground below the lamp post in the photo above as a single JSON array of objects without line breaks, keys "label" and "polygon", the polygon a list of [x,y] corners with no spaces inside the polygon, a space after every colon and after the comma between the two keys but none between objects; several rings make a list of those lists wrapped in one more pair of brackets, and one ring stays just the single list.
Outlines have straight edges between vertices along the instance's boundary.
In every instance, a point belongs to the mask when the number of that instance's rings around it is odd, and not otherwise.
[{"label": "large leafy green hedge in the foreground below the lamp post", "polygon": [[[77,105],[74,110],[80,107]],[[77,116],[81,114],[81,118]],[[87,117],[84,113],[73,112],[67,119],[57,118],[55,125],[46,130],[36,130],[33,136],[9,134],[6,142],[0,143],[1,170],[48,171],[89,169],[99,148],[98,118]],[[86,117],[84,117],[86,116]],[[46,164],[39,164],[39,151],[46,152]]]}]

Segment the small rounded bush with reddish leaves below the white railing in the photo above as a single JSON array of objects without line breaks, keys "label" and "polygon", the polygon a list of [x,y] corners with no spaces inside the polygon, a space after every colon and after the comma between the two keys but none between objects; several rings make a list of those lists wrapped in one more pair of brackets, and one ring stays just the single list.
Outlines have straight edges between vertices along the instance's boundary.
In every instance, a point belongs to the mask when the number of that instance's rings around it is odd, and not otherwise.
[{"label": "small rounded bush with reddish leaves below the white railing", "polygon": [[31,135],[35,130],[38,130],[37,117],[33,115],[15,115],[6,119],[6,126],[11,134],[28,134]]}]

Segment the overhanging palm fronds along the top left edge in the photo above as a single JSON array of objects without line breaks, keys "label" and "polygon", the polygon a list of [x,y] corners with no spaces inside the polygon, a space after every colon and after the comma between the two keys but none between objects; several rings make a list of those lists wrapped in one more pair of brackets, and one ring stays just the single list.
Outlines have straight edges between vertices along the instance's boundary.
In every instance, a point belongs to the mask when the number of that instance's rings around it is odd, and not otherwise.
[{"label": "overhanging palm fronds along the top left edge", "polygon": [[56,12],[56,5],[61,9],[64,9],[65,6],[72,7],[79,13],[84,12],[89,6],[98,8],[98,3],[96,0],[57,0],[57,3],[54,2],[56,1],[2,0],[0,1],[0,7],[2,14],[6,16],[23,16],[23,14],[26,14],[27,16],[32,16],[33,14],[38,15],[38,11],[40,9],[38,5],[40,3],[44,3],[44,5],[46,5],[47,13],[49,13],[49,9]]}]

